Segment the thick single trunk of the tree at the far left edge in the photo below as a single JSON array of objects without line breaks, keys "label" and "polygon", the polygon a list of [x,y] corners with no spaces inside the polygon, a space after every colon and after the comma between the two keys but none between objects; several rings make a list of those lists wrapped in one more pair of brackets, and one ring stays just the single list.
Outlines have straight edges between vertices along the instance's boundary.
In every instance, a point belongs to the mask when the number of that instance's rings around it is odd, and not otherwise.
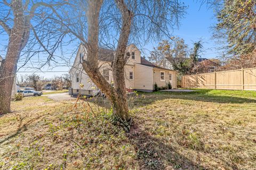
[{"label": "thick single trunk of the tree at the far left edge", "polygon": [[0,115],[11,112],[13,80],[21,50],[29,38],[28,18],[24,17],[21,0],[12,1],[14,25],[9,34],[5,59],[0,66]]}]

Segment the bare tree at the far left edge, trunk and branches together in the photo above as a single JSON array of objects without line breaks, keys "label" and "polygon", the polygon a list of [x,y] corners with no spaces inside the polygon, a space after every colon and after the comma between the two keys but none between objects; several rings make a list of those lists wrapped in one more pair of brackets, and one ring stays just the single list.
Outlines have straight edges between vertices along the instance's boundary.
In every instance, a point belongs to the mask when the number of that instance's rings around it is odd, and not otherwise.
[{"label": "bare tree at the far left edge, trunk and branches together", "polygon": [[[46,39],[58,39],[58,31],[52,31],[52,24],[47,22],[47,19],[54,17],[54,15],[52,16],[52,12],[55,10],[54,7],[58,7],[60,4],[59,2],[48,4],[45,1],[29,0],[3,0],[0,2],[0,35],[3,34],[8,37],[6,55],[0,66],[0,114],[10,112],[13,79],[20,56],[27,56],[25,64],[30,57],[38,52],[46,51],[49,56],[48,60],[53,57],[53,52],[57,49],[57,46],[51,46],[51,41],[44,45],[44,41]],[[46,31],[46,28],[51,29],[51,31]],[[58,30],[58,28],[54,29]],[[55,35],[49,38],[53,33]],[[31,35],[33,35],[33,38],[30,38]],[[27,46],[28,44],[29,46]],[[28,52],[22,53],[25,48]],[[32,50],[35,48],[37,50]]]}]

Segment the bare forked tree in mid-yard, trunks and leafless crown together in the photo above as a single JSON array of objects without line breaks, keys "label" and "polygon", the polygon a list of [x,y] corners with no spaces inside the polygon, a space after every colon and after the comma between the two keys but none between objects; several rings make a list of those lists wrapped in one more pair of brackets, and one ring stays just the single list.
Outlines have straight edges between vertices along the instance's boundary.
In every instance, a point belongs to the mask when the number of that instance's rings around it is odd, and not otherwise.
[{"label": "bare forked tree in mid-yard, trunks and leafless crown together", "polygon": [[[69,1],[73,9],[62,9],[59,22],[86,48],[83,69],[113,104],[118,122],[129,127],[131,117],[125,90],[125,54],[129,43],[171,37],[185,6],[177,0],[87,0]],[[112,66],[114,87],[99,71],[99,47],[115,48]]]}]

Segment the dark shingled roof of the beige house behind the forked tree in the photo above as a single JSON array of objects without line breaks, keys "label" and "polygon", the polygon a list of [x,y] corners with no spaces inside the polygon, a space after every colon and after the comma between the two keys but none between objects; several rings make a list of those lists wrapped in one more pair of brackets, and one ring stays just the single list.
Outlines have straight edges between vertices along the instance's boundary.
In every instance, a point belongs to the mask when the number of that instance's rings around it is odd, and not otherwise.
[{"label": "dark shingled roof of the beige house behind the forked tree", "polygon": [[[106,49],[106,48],[99,48],[99,60],[106,61],[106,62],[113,62],[114,57],[115,57],[114,53],[115,53],[114,50]],[[140,57],[140,58],[141,58],[141,63],[137,63],[137,64],[146,65],[149,67],[153,67],[155,69],[174,71],[174,70],[170,70],[170,69],[165,69],[163,67],[155,66],[153,63],[147,61],[145,58],[143,58],[143,57]]]}]

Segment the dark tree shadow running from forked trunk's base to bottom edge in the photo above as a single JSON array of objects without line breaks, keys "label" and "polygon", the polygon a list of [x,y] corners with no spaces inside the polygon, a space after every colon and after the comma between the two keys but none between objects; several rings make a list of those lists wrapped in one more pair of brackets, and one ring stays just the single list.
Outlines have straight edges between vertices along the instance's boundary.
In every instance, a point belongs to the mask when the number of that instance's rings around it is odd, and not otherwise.
[{"label": "dark tree shadow running from forked trunk's base to bottom edge", "polygon": [[206,169],[138,126],[132,126],[127,135],[137,151],[140,169]]}]

